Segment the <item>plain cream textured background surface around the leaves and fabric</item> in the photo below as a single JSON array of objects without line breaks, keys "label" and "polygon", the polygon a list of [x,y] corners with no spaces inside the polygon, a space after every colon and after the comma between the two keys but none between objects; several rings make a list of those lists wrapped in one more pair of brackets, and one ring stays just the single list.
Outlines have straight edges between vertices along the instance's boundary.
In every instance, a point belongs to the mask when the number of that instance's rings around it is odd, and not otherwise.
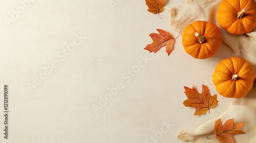
[{"label": "plain cream textured background surface around the leaves and fabric", "polygon": [[[167,1],[163,20],[137,0],[111,0],[118,4],[114,8],[109,0],[31,0],[13,15],[24,1],[0,0],[0,142],[176,143],[181,129],[197,128],[231,102],[218,94],[219,105],[200,116],[183,105],[183,86],[201,91],[205,84],[211,95],[217,93],[211,75],[230,50],[197,60],[185,53],[181,36],[169,57],[165,47],[156,54],[143,50],[156,29],[178,36],[168,10],[181,1]],[[6,18],[12,21],[7,24]],[[76,34],[86,39],[65,56]],[[141,57],[150,61],[129,76]],[[29,88],[52,62],[57,67]],[[119,82],[123,88],[95,114],[92,105],[99,106],[100,97]],[[9,85],[9,139],[3,134],[4,84]],[[168,122],[173,126],[159,137]]]}]

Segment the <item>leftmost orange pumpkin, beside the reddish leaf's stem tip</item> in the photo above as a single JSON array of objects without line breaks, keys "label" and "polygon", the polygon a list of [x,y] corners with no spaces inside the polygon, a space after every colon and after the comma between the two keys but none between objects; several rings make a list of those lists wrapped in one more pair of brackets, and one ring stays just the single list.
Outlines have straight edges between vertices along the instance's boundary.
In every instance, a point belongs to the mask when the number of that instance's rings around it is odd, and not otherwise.
[{"label": "leftmost orange pumpkin, beside the reddish leaf's stem tip", "polygon": [[212,57],[222,43],[220,29],[211,22],[195,21],[184,29],[182,44],[190,56],[197,59]]}]

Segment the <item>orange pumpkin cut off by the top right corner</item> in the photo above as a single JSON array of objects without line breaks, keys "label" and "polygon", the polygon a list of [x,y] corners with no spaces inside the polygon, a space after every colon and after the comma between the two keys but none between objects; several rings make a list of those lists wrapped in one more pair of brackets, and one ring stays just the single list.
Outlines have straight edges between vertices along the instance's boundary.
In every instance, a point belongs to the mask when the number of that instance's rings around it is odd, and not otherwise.
[{"label": "orange pumpkin cut off by the top right corner", "polygon": [[254,0],[224,0],[217,12],[220,27],[233,35],[251,32],[256,27]]}]

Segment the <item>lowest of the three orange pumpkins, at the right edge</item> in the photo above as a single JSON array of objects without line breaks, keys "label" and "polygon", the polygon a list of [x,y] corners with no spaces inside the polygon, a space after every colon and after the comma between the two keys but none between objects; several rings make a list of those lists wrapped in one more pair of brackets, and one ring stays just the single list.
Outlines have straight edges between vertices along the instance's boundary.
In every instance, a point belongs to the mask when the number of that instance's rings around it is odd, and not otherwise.
[{"label": "lowest of the three orange pumpkins, at the right edge", "polygon": [[254,70],[244,58],[227,58],[217,65],[212,81],[223,97],[242,98],[252,88]]}]

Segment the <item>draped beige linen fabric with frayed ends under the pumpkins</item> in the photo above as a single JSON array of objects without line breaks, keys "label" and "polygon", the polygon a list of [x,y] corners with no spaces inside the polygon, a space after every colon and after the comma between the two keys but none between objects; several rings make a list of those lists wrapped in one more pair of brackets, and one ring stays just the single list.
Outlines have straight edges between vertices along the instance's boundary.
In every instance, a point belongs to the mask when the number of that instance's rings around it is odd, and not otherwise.
[{"label": "draped beige linen fabric with frayed ends under the pumpkins", "polygon": [[[243,35],[231,35],[222,29],[216,17],[220,2],[221,0],[188,0],[184,6],[170,9],[170,23],[181,35],[185,27],[196,20],[215,23],[222,33],[223,44],[221,48],[231,48],[234,56],[245,58],[253,65],[254,71],[256,71],[256,29]],[[212,129],[214,129],[215,121],[219,118],[221,118],[222,123],[230,118],[234,118],[236,123],[245,123],[243,131],[246,134],[234,135],[235,142],[256,142],[256,83],[254,82],[247,96],[241,99],[234,99],[223,114],[201,125],[195,131],[182,130],[177,137],[187,142],[219,142],[218,139],[209,140],[206,138],[206,136],[211,137],[213,135]]]}]

